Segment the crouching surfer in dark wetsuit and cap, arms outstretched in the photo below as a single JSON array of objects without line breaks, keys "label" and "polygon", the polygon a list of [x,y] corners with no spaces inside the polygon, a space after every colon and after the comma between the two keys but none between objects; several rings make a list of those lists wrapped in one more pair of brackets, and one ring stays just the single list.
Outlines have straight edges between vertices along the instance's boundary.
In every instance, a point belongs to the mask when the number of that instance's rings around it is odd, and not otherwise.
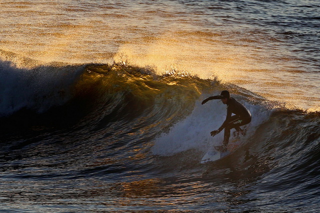
[{"label": "crouching surfer in dark wetsuit and cap, arms outstretched", "polygon": [[[221,91],[220,95],[205,98],[201,104],[213,99],[221,99],[222,103],[227,105],[226,118],[224,122],[217,130],[210,132],[211,136],[213,137],[224,128],[222,145],[215,146],[215,148],[219,151],[226,151],[226,145],[228,144],[230,137],[230,130],[235,128],[238,133],[243,134],[243,130],[240,128],[240,126],[251,122],[251,113],[241,103],[236,101],[233,97],[230,97],[230,93],[227,90]],[[232,113],[234,115],[231,116]]]}]

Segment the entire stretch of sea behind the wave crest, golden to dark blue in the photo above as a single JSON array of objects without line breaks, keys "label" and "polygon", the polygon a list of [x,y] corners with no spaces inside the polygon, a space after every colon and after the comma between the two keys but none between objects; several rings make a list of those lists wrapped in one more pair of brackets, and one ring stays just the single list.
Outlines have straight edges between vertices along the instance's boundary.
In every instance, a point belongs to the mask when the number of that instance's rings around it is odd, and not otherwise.
[{"label": "entire stretch of sea behind the wave crest, golden to dark blue", "polygon": [[0,49],[43,62],[122,57],[315,110],[318,12],[316,0],[4,1]]}]

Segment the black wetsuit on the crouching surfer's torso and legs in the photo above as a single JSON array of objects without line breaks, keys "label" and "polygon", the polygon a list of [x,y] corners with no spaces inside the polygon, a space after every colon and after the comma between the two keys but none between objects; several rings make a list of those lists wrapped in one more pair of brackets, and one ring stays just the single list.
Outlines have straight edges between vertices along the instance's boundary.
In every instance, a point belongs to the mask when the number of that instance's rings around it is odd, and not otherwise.
[{"label": "black wetsuit on the crouching surfer's torso and legs", "polygon": [[[230,97],[227,100],[226,118],[219,129],[224,128],[223,144],[226,145],[229,142],[230,129],[235,128],[240,130],[239,126],[248,124],[251,121],[250,112],[234,98]],[[232,115],[231,114],[235,114]]]}]

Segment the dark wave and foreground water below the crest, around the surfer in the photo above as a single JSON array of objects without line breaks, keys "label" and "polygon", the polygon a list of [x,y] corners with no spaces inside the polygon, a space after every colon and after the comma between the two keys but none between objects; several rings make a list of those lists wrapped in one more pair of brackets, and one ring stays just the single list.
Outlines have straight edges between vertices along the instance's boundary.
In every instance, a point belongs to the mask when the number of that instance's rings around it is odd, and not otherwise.
[{"label": "dark wave and foreground water below the crest, around the surfer", "polygon": [[[319,210],[319,112],[123,63],[2,61],[0,76],[0,209]],[[252,121],[236,152],[203,165],[226,109],[200,102],[223,89]]]}]

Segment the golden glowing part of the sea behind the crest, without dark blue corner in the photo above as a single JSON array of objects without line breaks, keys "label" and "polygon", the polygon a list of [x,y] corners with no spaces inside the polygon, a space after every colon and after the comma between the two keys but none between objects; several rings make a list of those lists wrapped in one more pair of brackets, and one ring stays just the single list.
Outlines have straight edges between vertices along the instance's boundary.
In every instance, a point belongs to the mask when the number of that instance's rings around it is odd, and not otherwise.
[{"label": "golden glowing part of the sea behind the crest, without dark blue corner", "polygon": [[190,21],[194,14],[187,13],[188,8],[179,16],[175,12],[181,5],[167,4],[163,9],[161,4],[82,1],[1,3],[0,18],[6,21],[0,22],[0,49],[42,64],[127,60],[158,73],[188,71],[235,83],[287,105],[319,107],[317,93],[311,100],[305,95],[308,89],[317,91],[313,79],[317,75],[305,73],[291,52],[281,49],[280,39],[250,31],[226,32],[219,25],[201,28]]}]

